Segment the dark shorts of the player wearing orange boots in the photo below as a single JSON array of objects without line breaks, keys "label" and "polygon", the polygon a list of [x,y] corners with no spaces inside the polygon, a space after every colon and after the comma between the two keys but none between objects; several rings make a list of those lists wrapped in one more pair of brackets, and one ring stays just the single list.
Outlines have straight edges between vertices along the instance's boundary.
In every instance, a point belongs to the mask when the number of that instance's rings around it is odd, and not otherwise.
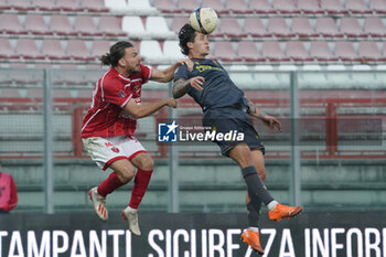
[{"label": "dark shorts of the player wearing orange boots", "polygon": [[[265,153],[264,143],[249,116],[243,109],[234,107],[208,109],[204,113],[203,126],[216,130],[216,133],[227,135],[227,139],[230,138],[230,140],[214,140],[223,156],[229,157],[229,151],[238,143],[246,143],[250,150],[259,149],[262,154]],[[242,133],[243,140],[240,140]]]}]

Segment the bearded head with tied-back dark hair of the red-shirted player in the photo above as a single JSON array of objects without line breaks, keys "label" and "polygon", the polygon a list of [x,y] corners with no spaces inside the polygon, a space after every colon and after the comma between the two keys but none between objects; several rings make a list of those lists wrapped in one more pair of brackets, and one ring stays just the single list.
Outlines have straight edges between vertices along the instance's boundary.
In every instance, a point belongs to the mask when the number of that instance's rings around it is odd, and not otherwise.
[{"label": "bearded head with tied-back dark hair of the red-shirted player", "polygon": [[119,41],[111,45],[110,52],[104,54],[100,62],[104,65],[119,67],[129,74],[141,71],[139,66],[141,57],[136,47],[128,41]]}]

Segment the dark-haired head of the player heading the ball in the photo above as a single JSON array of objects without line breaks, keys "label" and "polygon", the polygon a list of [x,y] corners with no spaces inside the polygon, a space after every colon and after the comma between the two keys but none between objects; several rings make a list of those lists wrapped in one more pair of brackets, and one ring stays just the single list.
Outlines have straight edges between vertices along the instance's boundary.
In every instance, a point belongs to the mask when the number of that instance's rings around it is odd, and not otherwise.
[{"label": "dark-haired head of the player heading the ball", "polygon": [[179,32],[181,52],[189,57],[205,57],[210,54],[207,35],[195,31],[190,24],[184,24]]}]

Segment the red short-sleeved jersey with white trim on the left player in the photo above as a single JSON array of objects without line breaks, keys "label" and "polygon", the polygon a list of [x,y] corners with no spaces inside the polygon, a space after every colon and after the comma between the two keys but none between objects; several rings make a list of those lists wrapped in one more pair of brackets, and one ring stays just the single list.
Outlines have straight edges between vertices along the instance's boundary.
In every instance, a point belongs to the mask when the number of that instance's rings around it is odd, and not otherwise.
[{"label": "red short-sleeved jersey with white trim on the left player", "polygon": [[83,121],[82,138],[132,136],[137,119],[124,110],[133,98],[141,103],[142,84],[151,76],[151,68],[141,66],[141,72],[125,77],[110,67],[99,78],[93,92],[93,103]]}]

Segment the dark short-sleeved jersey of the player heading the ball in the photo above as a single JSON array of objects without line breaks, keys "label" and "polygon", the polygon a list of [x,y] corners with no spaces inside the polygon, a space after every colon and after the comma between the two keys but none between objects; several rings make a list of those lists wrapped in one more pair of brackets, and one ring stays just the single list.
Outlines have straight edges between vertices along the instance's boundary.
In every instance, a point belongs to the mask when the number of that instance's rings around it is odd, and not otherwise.
[{"label": "dark short-sleeved jersey of the player heading the ball", "polygon": [[192,58],[194,68],[187,71],[186,65],[182,65],[174,74],[174,81],[190,79],[195,76],[205,78],[203,90],[191,88],[187,94],[203,108],[219,108],[243,103],[244,93],[229,78],[228,73],[216,61],[210,58]]}]

